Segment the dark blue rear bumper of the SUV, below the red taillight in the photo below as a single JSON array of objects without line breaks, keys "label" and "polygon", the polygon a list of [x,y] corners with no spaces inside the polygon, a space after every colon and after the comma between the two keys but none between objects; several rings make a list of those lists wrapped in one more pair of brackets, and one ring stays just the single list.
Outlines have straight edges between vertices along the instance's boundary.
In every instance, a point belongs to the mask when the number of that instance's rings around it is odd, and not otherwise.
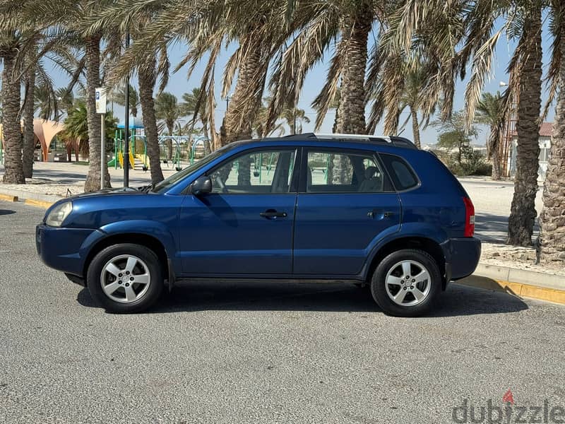
[{"label": "dark blue rear bumper of the SUV, below the red taillight", "polygon": [[481,242],[477,237],[449,239],[441,243],[446,258],[446,281],[470,276],[481,257]]}]

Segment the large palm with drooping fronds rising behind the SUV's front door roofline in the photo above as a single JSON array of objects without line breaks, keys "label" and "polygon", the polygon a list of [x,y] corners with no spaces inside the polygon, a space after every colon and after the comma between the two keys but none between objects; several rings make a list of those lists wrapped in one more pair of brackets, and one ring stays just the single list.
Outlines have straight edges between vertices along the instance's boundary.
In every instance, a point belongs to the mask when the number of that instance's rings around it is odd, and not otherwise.
[{"label": "large palm with drooping fronds rising behind the SUV's front door roofline", "polygon": [[[155,2],[138,3],[133,0],[114,1],[112,8],[102,17],[102,20],[115,19],[116,16],[131,20],[129,11],[132,8],[136,11],[147,8],[155,14],[152,23],[115,69],[114,78],[125,76],[131,64],[139,63],[147,50],[157,47],[162,40],[188,41],[189,51],[177,69],[190,64],[190,75],[198,61],[208,57],[201,78],[201,92],[194,108],[200,110],[201,103],[205,103],[210,129],[214,128],[216,60],[222,45],[230,42],[239,44],[227,61],[222,80],[223,98],[232,92],[232,83],[237,74],[233,95],[230,96],[230,108],[223,119],[220,141],[216,147],[251,136],[251,123],[261,106],[270,60],[285,49],[288,37],[306,25],[309,16],[312,16],[311,13],[302,12],[307,8],[314,10],[319,7],[287,0],[172,1],[158,5]],[[183,18],[179,19],[179,16]],[[100,25],[97,26],[100,28]],[[212,136],[215,138],[214,131]]]}]

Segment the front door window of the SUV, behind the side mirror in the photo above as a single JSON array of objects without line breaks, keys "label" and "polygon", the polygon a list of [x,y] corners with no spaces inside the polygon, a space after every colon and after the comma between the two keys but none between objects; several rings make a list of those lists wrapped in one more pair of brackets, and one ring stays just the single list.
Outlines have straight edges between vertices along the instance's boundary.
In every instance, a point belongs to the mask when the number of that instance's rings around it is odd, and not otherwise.
[{"label": "front door window of the SUV, behind the side mirror", "polygon": [[223,163],[210,174],[212,192],[288,193],[295,151],[253,151]]}]

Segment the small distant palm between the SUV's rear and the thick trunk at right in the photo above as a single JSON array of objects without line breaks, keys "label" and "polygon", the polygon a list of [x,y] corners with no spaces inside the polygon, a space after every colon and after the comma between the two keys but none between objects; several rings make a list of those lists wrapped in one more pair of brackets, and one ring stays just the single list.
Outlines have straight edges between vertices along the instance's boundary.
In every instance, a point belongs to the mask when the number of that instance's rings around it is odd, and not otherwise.
[{"label": "small distant palm between the SUV's rear and the thick trunk at right", "polygon": [[487,154],[492,161],[492,179],[501,179],[501,137],[504,131],[503,109],[504,98],[499,91],[496,95],[482,93],[482,99],[477,105],[477,122],[490,126],[489,139],[487,140]]}]

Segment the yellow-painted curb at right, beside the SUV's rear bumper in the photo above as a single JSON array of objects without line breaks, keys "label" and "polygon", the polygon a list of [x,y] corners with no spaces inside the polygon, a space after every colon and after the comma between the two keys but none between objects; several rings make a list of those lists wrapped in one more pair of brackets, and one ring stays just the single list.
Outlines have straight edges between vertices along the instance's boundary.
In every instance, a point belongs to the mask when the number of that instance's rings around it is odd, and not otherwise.
[{"label": "yellow-painted curb at right, beside the SUV's rear bumper", "polygon": [[456,283],[565,305],[565,277],[555,274],[479,264],[472,276]]}]

